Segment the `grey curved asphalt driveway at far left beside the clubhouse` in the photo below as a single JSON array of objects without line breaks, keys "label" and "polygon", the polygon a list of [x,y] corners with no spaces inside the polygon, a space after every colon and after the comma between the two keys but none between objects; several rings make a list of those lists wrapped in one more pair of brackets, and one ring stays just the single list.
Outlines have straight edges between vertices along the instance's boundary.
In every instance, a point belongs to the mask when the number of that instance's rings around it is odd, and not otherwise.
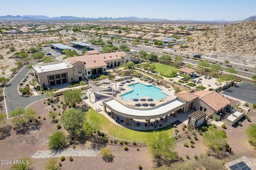
[{"label": "grey curved asphalt driveway at far left beside the clubhouse", "polygon": [[15,108],[19,106],[26,108],[29,104],[33,103],[34,101],[45,98],[44,95],[23,97],[19,94],[19,83],[23,80],[23,78],[26,76],[29,70],[30,69],[27,69],[27,66],[24,66],[4,88],[4,99],[7,118],[12,117],[11,112]]}]

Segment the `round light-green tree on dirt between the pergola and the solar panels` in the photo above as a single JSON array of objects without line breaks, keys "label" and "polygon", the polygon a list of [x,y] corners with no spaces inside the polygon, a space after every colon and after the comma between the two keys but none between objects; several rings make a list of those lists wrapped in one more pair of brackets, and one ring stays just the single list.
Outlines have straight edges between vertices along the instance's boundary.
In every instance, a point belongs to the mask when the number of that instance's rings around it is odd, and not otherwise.
[{"label": "round light-green tree on dirt between the pergola and the solar panels", "polygon": [[219,150],[219,147],[224,148],[227,144],[227,135],[224,130],[209,128],[203,136],[203,142],[211,151]]}]

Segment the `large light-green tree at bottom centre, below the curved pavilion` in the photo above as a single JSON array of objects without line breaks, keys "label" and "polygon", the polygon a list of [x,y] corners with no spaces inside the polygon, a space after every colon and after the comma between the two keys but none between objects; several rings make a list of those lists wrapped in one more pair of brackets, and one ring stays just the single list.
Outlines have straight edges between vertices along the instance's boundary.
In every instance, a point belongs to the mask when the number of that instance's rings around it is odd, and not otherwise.
[{"label": "large light-green tree at bottom centre, below the curved pavilion", "polygon": [[148,145],[151,154],[157,160],[162,160],[166,164],[177,160],[177,154],[174,151],[175,139],[165,131],[150,135]]}]

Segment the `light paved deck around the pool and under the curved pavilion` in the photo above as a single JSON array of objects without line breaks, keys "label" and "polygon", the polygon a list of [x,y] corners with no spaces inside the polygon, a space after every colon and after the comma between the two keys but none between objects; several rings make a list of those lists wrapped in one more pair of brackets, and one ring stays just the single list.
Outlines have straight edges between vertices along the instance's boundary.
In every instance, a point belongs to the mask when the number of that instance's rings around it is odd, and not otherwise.
[{"label": "light paved deck around the pool and under the curved pavilion", "polygon": [[[136,107],[134,106],[136,103],[155,103],[156,106],[158,105],[163,105],[164,103],[167,103],[168,101],[171,101],[173,100],[174,98],[176,98],[174,96],[174,90],[172,90],[171,88],[170,89],[167,89],[165,88],[164,86],[159,86],[159,85],[156,85],[155,87],[157,88],[160,88],[162,89],[165,94],[169,95],[169,97],[165,98],[163,101],[158,101],[158,100],[153,100],[153,101],[126,101],[124,99],[122,99],[121,97],[119,97],[120,95],[123,95],[125,94],[126,92],[129,92],[130,90],[132,90],[129,86],[129,84],[131,83],[143,83],[145,85],[153,85],[151,82],[146,82],[146,81],[141,81],[140,79],[138,78],[133,78],[134,81],[130,82],[130,83],[125,83],[124,86],[122,86],[125,90],[121,90],[121,93],[117,94],[116,92],[114,92],[114,98],[118,101],[120,101],[122,104],[124,105],[129,105],[130,107],[133,106],[134,108],[150,108],[150,106],[148,107],[145,107],[145,106],[140,106],[140,107]],[[121,84],[121,82],[117,82],[116,83],[116,87],[118,88],[119,87],[119,84]],[[114,87],[114,90],[115,90],[115,87]],[[90,90],[86,91],[86,95],[89,96],[90,94]],[[97,109],[101,109],[101,111],[99,111],[98,113],[99,114],[102,114],[104,115],[105,117],[108,118],[108,120],[116,125],[119,125],[121,127],[124,127],[124,128],[129,128],[129,129],[133,129],[133,130],[152,130],[154,129],[154,126],[145,126],[145,123],[147,123],[146,120],[137,120],[137,119],[132,119],[132,120],[129,120],[129,125],[126,125],[125,121],[124,122],[116,122],[116,119],[117,119],[117,116],[115,114],[115,116],[113,118],[111,118],[111,116],[109,115],[109,113],[106,113],[106,112],[103,112],[103,105],[102,105],[102,100],[106,100],[106,99],[110,99],[110,98],[113,98],[113,96],[111,96],[111,91],[109,92],[105,92],[104,94],[102,93],[100,95],[100,99],[99,98],[96,98],[94,95],[91,95],[91,101],[89,100],[89,98],[84,98],[83,100],[89,104],[93,109],[97,110]],[[141,98],[139,98],[141,99]],[[146,97],[143,97],[143,99],[148,99]],[[107,111],[109,111],[109,109],[107,108]],[[156,118],[156,119],[152,119],[151,122],[154,123],[156,120],[158,120],[158,126],[157,128],[163,128],[164,126],[166,125],[170,125],[171,123],[175,122],[175,121],[180,121],[182,123],[185,123],[187,124],[188,123],[188,115],[190,114],[190,111],[187,112],[187,113],[178,113],[177,114],[177,117],[173,117],[173,116],[170,116],[169,115],[169,118],[167,120],[167,122],[165,121],[161,121],[159,118]],[[122,117],[122,116],[118,116],[118,118],[120,118],[121,120],[125,120],[125,117]],[[140,122],[141,125],[138,126],[136,123],[137,122]],[[161,126],[159,126],[161,124]],[[155,130],[155,129],[154,129]]]}]

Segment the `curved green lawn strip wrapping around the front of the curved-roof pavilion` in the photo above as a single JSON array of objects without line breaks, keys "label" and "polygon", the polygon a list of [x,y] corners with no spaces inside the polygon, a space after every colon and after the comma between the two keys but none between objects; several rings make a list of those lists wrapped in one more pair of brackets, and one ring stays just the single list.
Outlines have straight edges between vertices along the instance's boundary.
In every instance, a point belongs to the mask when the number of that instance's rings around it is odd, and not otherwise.
[{"label": "curved green lawn strip wrapping around the front of the curved-roof pavilion", "polygon": [[86,112],[86,114],[97,115],[97,117],[100,120],[102,132],[123,140],[145,142],[148,139],[149,135],[153,133],[161,133],[161,131],[166,131],[170,134],[170,136],[173,133],[173,129],[170,128],[170,126],[165,126],[164,128],[158,129],[158,132],[153,132],[153,130],[137,131],[123,128],[119,125],[115,125],[114,123],[110,122],[108,118],[106,118],[100,113],[95,112],[92,108],[90,108],[90,110]]}]

